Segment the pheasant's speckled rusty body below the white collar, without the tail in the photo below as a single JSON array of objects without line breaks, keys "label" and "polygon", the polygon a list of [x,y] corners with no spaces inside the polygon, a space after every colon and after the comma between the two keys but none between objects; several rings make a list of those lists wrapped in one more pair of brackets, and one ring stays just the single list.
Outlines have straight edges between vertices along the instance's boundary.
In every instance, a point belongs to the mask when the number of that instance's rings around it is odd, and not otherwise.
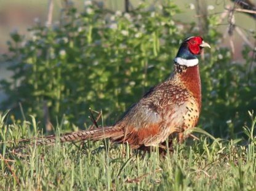
[{"label": "pheasant's speckled rusty body below the white collar, without the tail", "polygon": [[120,128],[123,132],[111,139],[128,142],[134,148],[158,146],[170,134],[182,134],[186,128],[194,127],[200,110],[201,82],[198,65],[189,68],[175,65],[174,74],[151,88],[113,125],[113,128]]}]

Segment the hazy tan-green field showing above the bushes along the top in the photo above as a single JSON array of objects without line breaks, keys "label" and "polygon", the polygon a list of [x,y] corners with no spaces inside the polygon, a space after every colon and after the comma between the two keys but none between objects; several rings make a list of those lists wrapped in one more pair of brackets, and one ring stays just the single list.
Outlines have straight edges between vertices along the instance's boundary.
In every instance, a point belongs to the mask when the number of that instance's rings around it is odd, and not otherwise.
[{"label": "hazy tan-green field showing above the bushes along the top", "polygon": [[[1,0],[0,1],[0,53],[7,53],[8,47],[7,47],[7,40],[9,39],[9,33],[14,30],[20,31],[21,34],[28,34],[27,29],[34,24],[35,20],[41,20],[43,23],[47,22],[47,14],[49,12],[49,0]],[[95,1],[100,2],[100,1]],[[125,9],[125,2],[122,0],[105,0],[102,1],[103,6],[107,9],[111,10],[121,10],[124,11]],[[130,6],[132,8],[135,8],[138,6],[140,1],[134,1],[130,0]],[[154,6],[156,4],[159,4],[161,1],[150,1],[147,0],[151,6]],[[225,8],[228,6],[233,6],[233,1],[210,1],[210,0],[204,0],[204,1],[189,1],[189,0],[183,0],[183,1],[177,1],[174,0],[175,4],[180,8],[181,12],[177,15],[174,15],[174,18],[177,20],[182,20],[186,23],[190,23],[191,21],[197,21],[197,4],[202,4],[202,6],[207,6],[207,12],[208,14],[222,14],[225,11]],[[256,4],[255,0],[250,0],[250,2]],[[63,9],[63,6],[65,4],[65,1],[63,0],[55,0],[53,1],[53,12],[52,12],[52,20],[56,21],[60,18],[60,10]],[[78,10],[84,9],[84,1],[77,0],[73,1],[73,4],[75,7],[78,8]],[[224,16],[223,16],[224,17]],[[228,25],[228,18],[223,19],[222,25],[218,26],[218,29],[222,31],[222,33],[225,33],[227,25]],[[244,30],[248,30],[250,32],[255,31],[256,23],[255,19],[242,13],[242,12],[236,12],[235,13],[235,20],[236,25],[241,27]],[[242,39],[240,36],[236,35],[236,32],[234,34],[234,42],[236,45],[235,50],[241,50],[239,45],[242,43]],[[235,59],[241,58],[241,54],[239,51],[237,51],[238,55],[234,55]]]}]

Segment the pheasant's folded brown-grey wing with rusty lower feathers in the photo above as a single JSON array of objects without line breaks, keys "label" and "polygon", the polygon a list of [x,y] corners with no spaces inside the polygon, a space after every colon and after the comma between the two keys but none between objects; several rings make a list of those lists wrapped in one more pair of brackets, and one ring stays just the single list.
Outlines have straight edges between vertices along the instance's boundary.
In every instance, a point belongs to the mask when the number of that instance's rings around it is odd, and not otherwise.
[{"label": "pheasant's folded brown-grey wing with rusty lower feathers", "polygon": [[[169,126],[176,128],[182,123],[180,120],[182,116],[178,114],[185,112],[182,104],[188,95],[185,88],[171,84],[170,81],[151,88],[115,124],[124,129],[124,136],[113,138],[113,141],[128,142],[132,147],[139,147],[143,144],[153,146],[164,141],[170,134]],[[170,122],[167,119],[168,116]]]}]

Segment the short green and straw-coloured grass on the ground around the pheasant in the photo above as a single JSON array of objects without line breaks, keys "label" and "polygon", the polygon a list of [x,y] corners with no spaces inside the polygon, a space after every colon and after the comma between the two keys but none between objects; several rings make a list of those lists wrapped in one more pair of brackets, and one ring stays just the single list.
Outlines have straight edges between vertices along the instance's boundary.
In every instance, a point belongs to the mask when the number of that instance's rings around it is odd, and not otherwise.
[{"label": "short green and straw-coloured grass on the ground around the pheasant", "polygon": [[212,140],[201,133],[199,140],[174,143],[174,152],[161,156],[108,140],[57,142],[12,154],[10,148],[17,146],[7,141],[38,135],[37,125],[33,117],[6,125],[7,115],[2,115],[0,190],[255,190],[256,117],[250,116],[245,146],[239,145],[241,139]]}]

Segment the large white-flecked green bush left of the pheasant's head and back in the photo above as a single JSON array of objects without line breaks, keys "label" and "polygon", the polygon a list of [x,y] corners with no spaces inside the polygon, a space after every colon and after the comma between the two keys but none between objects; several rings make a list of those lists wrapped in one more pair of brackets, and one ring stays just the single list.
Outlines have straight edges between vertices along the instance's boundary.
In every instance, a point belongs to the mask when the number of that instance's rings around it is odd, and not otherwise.
[{"label": "large white-flecked green bush left of the pheasant's head and back", "polygon": [[6,106],[20,102],[42,118],[47,101],[53,119],[65,114],[76,123],[84,122],[89,107],[106,116],[123,112],[167,76],[175,39],[183,37],[172,20],[177,7],[169,2],[157,9],[150,13],[142,5],[130,14],[109,14],[89,6],[79,14],[71,8],[53,28],[31,28],[25,45],[12,34],[14,76],[2,82]]}]

